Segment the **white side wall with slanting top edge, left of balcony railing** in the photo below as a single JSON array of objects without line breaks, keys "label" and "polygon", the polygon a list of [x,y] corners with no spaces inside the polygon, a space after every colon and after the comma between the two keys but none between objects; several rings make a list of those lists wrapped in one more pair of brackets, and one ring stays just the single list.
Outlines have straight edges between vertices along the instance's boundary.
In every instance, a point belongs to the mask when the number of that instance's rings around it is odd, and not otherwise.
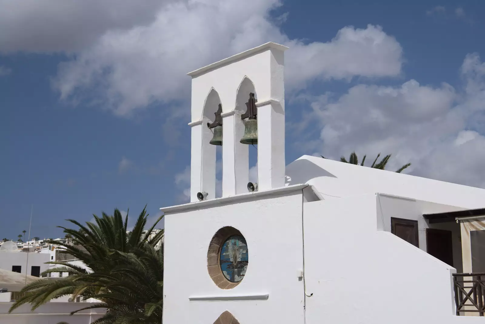
[{"label": "white side wall with slanting top edge, left of balcony railing", "polygon": [[482,323],[454,316],[454,269],[377,230],[377,206],[375,194],[305,204],[307,324]]}]

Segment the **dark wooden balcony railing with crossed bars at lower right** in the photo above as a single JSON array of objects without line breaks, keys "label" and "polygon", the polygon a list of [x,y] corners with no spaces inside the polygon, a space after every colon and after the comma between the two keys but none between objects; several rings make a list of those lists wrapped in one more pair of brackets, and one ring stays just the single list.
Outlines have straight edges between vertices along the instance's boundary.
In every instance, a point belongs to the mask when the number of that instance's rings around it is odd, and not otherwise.
[{"label": "dark wooden balcony railing with crossed bars at lower right", "polygon": [[[485,313],[485,273],[453,274],[456,315]],[[469,314],[471,315],[471,314]]]}]

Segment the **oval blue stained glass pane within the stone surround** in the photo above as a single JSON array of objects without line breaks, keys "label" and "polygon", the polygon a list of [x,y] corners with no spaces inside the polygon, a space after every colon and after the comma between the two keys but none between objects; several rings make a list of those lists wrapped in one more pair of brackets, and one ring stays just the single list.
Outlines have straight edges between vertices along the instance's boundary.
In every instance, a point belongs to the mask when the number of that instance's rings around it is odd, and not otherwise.
[{"label": "oval blue stained glass pane within the stone surround", "polygon": [[238,282],[244,278],[248,263],[246,240],[241,235],[227,238],[221,248],[221,270],[227,280]]}]

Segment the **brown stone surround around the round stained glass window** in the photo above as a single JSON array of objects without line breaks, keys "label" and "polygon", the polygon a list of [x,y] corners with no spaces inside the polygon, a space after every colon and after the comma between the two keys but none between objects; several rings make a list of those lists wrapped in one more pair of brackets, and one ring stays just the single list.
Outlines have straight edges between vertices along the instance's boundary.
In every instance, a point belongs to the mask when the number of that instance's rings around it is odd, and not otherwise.
[{"label": "brown stone surround around the round stained glass window", "polygon": [[212,279],[216,286],[221,289],[232,289],[239,285],[242,281],[231,282],[227,280],[221,271],[221,248],[224,242],[226,242],[227,238],[232,235],[241,235],[244,237],[241,232],[234,227],[226,226],[220,228],[210,240],[209,249],[207,251],[207,271],[209,272],[210,279]]}]

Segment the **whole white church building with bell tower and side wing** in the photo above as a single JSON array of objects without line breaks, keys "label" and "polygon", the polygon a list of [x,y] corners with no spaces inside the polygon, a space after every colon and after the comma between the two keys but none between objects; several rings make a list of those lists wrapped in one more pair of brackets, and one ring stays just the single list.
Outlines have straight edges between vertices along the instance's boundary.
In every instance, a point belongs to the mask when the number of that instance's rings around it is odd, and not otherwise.
[{"label": "whole white church building with bell tower and side wing", "polygon": [[191,202],[161,209],[163,323],[483,323],[485,190],[313,156],[286,165],[286,49],[189,73]]}]

